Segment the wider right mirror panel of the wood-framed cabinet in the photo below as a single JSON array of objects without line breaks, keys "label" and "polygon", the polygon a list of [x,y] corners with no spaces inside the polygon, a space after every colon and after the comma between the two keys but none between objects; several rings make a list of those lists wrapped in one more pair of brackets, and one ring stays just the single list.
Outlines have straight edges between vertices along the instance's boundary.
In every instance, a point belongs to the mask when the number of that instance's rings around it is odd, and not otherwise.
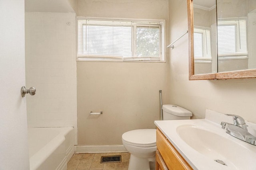
[{"label": "wider right mirror panel of the wood-framed cabinet", "polygon": [[256,1],[217,0],[218,72],[256,68]]}]

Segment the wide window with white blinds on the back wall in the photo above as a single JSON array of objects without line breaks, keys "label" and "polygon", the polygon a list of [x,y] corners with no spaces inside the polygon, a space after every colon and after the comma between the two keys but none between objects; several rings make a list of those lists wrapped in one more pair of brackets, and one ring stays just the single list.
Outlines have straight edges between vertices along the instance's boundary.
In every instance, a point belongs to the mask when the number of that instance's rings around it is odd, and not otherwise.
[{"label": "wide window with white blinds on the back wall", "polygon": [[164,20],[78,18],[78,61],[164,61]]}]

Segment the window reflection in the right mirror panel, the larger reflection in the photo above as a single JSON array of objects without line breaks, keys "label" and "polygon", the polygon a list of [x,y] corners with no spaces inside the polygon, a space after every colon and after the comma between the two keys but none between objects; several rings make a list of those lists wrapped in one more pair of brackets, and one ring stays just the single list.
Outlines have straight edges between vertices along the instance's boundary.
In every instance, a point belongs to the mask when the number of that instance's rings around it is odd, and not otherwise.
[{"label": "window reflection in the right mirror panel, the larger reflection", "polygon": [[247,57],[246,19],[218,20],[218,56]]}]

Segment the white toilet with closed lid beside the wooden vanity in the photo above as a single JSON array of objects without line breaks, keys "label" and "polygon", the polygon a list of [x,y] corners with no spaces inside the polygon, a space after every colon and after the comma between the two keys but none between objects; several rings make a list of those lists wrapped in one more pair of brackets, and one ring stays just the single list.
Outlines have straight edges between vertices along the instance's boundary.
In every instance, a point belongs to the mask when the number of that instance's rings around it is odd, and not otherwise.
[{"label": "white toilet with closed lid beside the wooden vanity", "polygon": [[[180,106],[166,104],[162,106],[164,120],[190,119],[191,111]],[[128,170],[154,170],[156,159],[156,129],[136,129],[125,132],[122,142],[130,160]]]}]

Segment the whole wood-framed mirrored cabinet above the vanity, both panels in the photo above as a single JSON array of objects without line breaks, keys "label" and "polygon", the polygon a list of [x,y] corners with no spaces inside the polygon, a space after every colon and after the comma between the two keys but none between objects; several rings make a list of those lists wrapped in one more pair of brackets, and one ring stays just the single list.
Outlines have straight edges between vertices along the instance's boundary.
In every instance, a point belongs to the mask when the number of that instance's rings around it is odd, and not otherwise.
[{"label": "whole wood-framed mirrored cabinet above the vanity, both panels", "polygon": [[256,77],[256,1],[187,2],[189,80]]}]

